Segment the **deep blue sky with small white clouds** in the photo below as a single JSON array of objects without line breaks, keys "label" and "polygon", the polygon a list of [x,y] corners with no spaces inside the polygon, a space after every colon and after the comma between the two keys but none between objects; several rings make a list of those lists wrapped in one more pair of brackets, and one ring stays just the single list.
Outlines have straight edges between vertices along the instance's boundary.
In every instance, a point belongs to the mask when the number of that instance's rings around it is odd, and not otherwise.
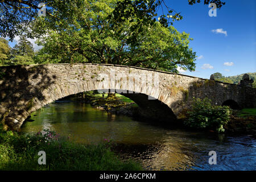
[{"label": "deep blue sky with small white clouds", "polygon": [[[183,15],[173,26],[190,34],[193,40],[189,47],[197,55],[196,71],[179,69],[180,73],[210,78],[216,72],[224,76],[256,72],[256,1],[223,0],[226,5],[216,10],[217,16],[209,16],[211,8],[201,1],[195,5],[188,5],[188,0],[165,1],[170,9]],[[163,10],[167,13],[167,9]],[[17,40],[16,37],[10,46]],[[36,50],[40,48],[35,40],[29,40]]]}]

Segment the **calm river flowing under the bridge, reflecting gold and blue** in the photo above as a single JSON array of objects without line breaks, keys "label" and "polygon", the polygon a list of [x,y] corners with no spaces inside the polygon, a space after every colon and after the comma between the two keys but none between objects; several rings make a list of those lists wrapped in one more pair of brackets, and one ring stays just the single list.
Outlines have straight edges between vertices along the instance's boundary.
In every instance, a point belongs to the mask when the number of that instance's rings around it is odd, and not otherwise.
[{"label": "calm river flowing under the bridge, reflecting gold and blue", "polygon": [[[24,123],[22,133],[50,129],[79,143],[110,140],[115,152],[148,170],[256,170],[256,139],[249,135],[164,128],[71,101],[46,105],[31,119],[35,121]],[[209,151],[216,152],[217,164],[209,164]]]}]

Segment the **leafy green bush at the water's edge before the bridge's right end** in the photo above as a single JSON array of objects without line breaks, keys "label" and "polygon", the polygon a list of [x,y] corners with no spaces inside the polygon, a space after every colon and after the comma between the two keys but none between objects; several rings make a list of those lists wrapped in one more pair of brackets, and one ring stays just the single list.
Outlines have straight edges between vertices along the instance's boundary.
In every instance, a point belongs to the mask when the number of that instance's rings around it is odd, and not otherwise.
[{"label": "leafy green bush at the water's edge before the bridge's right end", "polygon": [[188,111],[188,119],[184,124],[196,129],[214,129],[224,132],[224,125],[228,123],[231,110],[228,106],[212,105],[208,98],[200,100],[193,98],[192,111]]}]

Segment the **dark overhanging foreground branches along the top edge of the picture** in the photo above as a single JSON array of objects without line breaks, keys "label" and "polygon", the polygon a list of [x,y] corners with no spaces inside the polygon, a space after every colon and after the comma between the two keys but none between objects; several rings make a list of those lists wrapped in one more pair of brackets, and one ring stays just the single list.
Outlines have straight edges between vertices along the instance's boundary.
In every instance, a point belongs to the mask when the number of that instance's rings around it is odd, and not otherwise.
[{"label": "dark overhanging foreground branches along the top edge of the picture", "polygon": [[[64,24],[58,24],[59,20],[66,19],[67,23],[69,19],[73,18],[75,9],[73,7],[80,7],[85,1],[81,0],[0,0],[0,36],[9,36],[12,41],[15,36],[22,35],[24,31],[27,32],[29,38],[33,38],[36,35],[42,35],[46,33],[49,27],[59,28]],[[204,0],[204,4],[216,3],[217,8],[221,8],[225,5],[225,2],[221,0]],[[38,10],[42,7],[40,3],[46,5],[46,18],[48,19],[48,25],[44,24],[44,27],[40,27],[40,31],[28,31],[28,27],[31,27],[38,15]],[[200,3],[200,0],[188,0],[189,5]],[[156,12],[163,7],[168,10],[167,14],[159,16],[159,22],[167,27],[167,25],[176,20],[180,20],[183,17],[180,13],[166,6],[164,0],[121,0],[117,1],[117,6],[113,14],[110,14],[109,21],[115,23],[122,23],[123,21],[130,20],[137,22],[131,26],[131,29],[137,30],[142,28],[145,24],[154,23],[155,18],[158,16]],[[39,18],[40,19],[40,18]],[[42,18],[41,18],[42,19]],[[67,24],[66,24],[67,25]],[[43,29],[42,29],[43,28]],[[135,39],[134,35],[130,36],[130,39]]]}]

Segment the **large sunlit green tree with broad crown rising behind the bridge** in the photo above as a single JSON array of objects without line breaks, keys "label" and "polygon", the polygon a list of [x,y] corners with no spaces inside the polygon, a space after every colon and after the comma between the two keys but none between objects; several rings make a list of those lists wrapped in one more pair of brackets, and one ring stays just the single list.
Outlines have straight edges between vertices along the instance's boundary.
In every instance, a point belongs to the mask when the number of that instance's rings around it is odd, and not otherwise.
[{"label": "large sunlit green tree with broad crown rising behind the bridge", "polygon": [[[126,20],[115,24],[108,17],[117,2],[84,1],[84,5],[76,7],[69,26],[40,39],[38,44],[44,47],[37,57],[44,56],[44,61],[56,60],[56,63],[122,64],[171,72],[177,72],[178,65],[190,71],[195,69],[196,53],[188,47],[192,40],[189,34],[156,21],[136,31],[130,27],[137,22]],[[59,24],[66,21],[60,20]],[[130,39],[131,35],[136,40]]]}]

